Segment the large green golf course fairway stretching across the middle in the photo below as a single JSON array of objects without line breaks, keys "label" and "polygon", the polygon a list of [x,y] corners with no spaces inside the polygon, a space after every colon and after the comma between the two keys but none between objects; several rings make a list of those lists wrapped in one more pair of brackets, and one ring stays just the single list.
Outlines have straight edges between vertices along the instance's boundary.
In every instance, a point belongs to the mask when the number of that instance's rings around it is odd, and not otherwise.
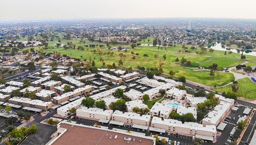
[{"label": "large green golf course fairway stretching across the middle", "polygon": [[[62,40],[62,39],[61,39]],[[79,45],[85,46],[90,43],[93,44],[100,44],[100,43],[94,43],[89,42],[86,40],[86,43],[80,43],[80,39],[72,39],[70,41],[62,40],[61,43],[65,44],[65,42],[73,42],[76,43],[76,47]],[[147,39],[146,39],[147,40]],[[53,42],[55,39],[53,40]],[[143,40],[142,40],[143,41]],[[53,43],[51,42],[51,43]],[[145,41],[146,42],[146,41]],[[50,43],[49,43],[50,45]],[[51,44],[52,45],[52,44]],[[106,44],[105,44],[106,46]],[[111,47],[118,47],[120,45],[111,45]],[[237,53],[231,53],[224,55],[223,51],[214,51],[213,53],[209,53],[209,51],[206,52],[206,54],[196,54],[196,51],[192,51],[191,53],[185,53],[182,49],[181,45],[177,45],[176,47],[156,47],[156,46],[138,46],[134,49],[131,49],[129,45],[122,45],[130,48],[125,51],[121,51],[126,55],[125,58],[122,58],[124,62],[124,67],[132,67],[136,68],[138,66],[145,67],[145,68],[151,68],[151,67],[159,67],[159,62],[161,61],[162,68],[164,70],[165,74],[168,74],[170,70],[175,71],[176,76],[185,76],[187,80],[191,80],[193,82],[207,85],[207,86],[222,86],[225,84],[230,83],[232,80],[234,80],[234,76],[230,73],[220,72],[220,76],[213,76],[211,77],[209,75],[209,71],[198,71],[190,68],[185,68],[179,66],[180,63],[175,62],[175,59],[178,57],[180,60],[182,57],[185,57],[188,61],[191,61],[192,68],[196,68],[198,66],[205,66],[209,67],[213,63],[217,63],[219,68],[229,68],[234,67],[238,64],[243,63],[244,61],[240,59],[241,54]],[[95,61],[95,65],[97,67],[102,67],[102,62],[100,61],[100,57],[104,60],[106,65],[112,65],[113,63],[118,64],[118,60],[121,58],[119,57],[118,51],[113,51],[113,56],[107,55],[106,53],[111,51],[107,49],[106,47],[103,47],[101,49],[103,55],[99,55],[98,52],[93,53],[93,50],[98,50],[99,47],[95,48],[88,48],[85,47],[84,51],[81,50],[74,50],[74,49],[64,49],[62,47],[58,47],[54,49],[53,47],[49,47],[48,50],[44,50],[45,52],[59,52],[61,54],[67,54],[70,57],[79,58],[81,60],[86,59],[87,62],[89,61],[89,54],[92,54],[92,59]],[[188,46],[190,50],[190,46]],[[30,48],[26,48],[30,49]],[[39,50],[39,47],[35,47],[35,50]],[[41,46],[42,49],[42,46]],[[197,48],[199,50],[199,48]],[[25,49],[23,49],[25,50]],[[23,50],[20,50],[19,52],[22,52]],[[134,55],[131,54],[131,51],[134,53],[139,53],[139,56],[135,58],[135,60],[132,59]],[[143,54],[148,54],[148,58],[143,58]],[[158,54],[158,58],[154,58],[154,54]],[[164,60],[163,55],[166,55],[166,59]],[[256,64],[256,57],[246,55],[246,61],[249,61],[251,65]],[[177,64],[177,65],[175,65]]]}]

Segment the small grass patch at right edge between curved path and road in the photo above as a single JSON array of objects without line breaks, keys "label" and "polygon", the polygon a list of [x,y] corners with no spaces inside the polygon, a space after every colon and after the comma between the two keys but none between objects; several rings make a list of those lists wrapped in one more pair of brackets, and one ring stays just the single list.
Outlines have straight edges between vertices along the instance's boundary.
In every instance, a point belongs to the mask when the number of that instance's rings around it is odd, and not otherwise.
[{"label": "small grass patch at right edge between curved path and road", "polygon": [[[236,92],[237,96],[245,98],[245,99],[256,99],[256,83],[253,83],[249,78],[238,79],[239,89]],[[231,85],[215,88],[214,90],[218,92],[228,92],[231,91]]]}]

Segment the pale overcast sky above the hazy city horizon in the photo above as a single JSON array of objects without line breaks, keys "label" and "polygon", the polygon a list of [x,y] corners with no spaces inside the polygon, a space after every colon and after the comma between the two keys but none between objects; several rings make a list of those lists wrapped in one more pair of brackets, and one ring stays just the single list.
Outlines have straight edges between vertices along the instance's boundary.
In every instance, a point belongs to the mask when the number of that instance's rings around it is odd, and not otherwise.
[{"label": "pale overcast sky above the hazy city horizon", "polygon": [[0,0],[0,21],[99,18],[256,19],[255,0]]}]

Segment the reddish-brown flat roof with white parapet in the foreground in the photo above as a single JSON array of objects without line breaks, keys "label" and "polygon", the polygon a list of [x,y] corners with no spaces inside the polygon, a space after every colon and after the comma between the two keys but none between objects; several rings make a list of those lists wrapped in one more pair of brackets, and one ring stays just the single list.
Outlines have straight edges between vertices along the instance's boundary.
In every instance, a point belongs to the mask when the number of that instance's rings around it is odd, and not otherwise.
[{"label": "reddish-brown flat roof with white parapet in the foreground", "polygon": [[[72,123],[61,123],[60,128],[66,130],[60,134],[52,143],[53,145],[66,144],[84,144],[84,145],[120,145],[120,144],[147,144],[153,145],[155,139],[149,136],[133,135],[118,131],[107,130],[105,128],[97,128]],[[116,136],[116,139],[115,139]],[[127,142],[124,139],[131,139]],[[133,141],[133,139],[135,141]]]}]

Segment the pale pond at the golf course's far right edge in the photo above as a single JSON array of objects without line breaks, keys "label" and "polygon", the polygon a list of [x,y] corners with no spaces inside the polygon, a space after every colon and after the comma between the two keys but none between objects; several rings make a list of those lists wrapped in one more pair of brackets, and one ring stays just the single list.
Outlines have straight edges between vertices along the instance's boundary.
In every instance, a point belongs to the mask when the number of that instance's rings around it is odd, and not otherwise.
[{"label": "pale pond at the golf course's far right edge", "polygon": [[252,51],[252,50],[242,50],[242,49],[229,49],[229,48],[222,48],[221,47],[221,43],[215,43],[215,45],[211,46],[211,49],[214,50],[220,50],[220,51],[231,51],[234,53],[242,53],[242,51],[244,52],[243,54],[246,55],[252,55],[252,56],[256,56],[256,51]]}]

